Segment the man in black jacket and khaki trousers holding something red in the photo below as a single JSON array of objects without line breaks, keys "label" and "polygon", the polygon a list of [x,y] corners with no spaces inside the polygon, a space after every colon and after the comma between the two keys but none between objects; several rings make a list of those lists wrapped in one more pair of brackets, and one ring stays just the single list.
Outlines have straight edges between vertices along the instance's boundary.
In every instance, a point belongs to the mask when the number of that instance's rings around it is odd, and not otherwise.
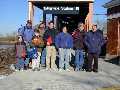
[{"label": "man in black jacket and khaki trousers holding something red", "polygon": [[[55,37],[57,31],[54,28],[53,21],[49,22],[49,27],[44,33],[44,39],[46,41],[46,69],[55,70],[55,60],[56,60],[56,48],[55,48]],[[50,65],[51,61],[51,65]],[[51,67],[50,67],[51,66]]]}]

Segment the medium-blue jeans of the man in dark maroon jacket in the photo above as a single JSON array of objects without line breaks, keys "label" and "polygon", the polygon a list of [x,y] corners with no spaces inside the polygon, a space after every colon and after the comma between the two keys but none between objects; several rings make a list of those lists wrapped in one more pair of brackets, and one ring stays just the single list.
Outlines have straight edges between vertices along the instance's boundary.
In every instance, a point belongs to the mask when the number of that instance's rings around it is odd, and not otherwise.
[{"label": "medium-blue jeans of the man in dark maroon jacket", "polygon": [[82,68],[84,64],[84,53],[83,50],[75,50],[75,67],[77,69]]}]

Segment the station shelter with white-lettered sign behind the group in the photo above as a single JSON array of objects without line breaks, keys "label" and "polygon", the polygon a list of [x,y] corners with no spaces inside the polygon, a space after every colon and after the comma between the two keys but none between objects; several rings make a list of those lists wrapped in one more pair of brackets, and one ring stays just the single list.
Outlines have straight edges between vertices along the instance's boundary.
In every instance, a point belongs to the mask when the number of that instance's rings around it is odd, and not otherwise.
[{"label": "station shelter with white-lettered sign behind the group", "polygon": [[47,14],[52,14],[58,29],[62,24],[68,23],[72,32],[78,22],[83,22],[88,30],[92,26],[93,2],[94,0],[28,0],[28,19],[33,21],[34,7],[38,7],[43,10],[43,21],[46,21]]}]

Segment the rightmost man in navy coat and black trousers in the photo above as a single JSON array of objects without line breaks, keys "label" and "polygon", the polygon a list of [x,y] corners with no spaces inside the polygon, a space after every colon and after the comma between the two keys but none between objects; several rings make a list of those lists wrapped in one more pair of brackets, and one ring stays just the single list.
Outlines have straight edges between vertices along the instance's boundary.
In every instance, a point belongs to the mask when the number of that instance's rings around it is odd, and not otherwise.
[{"label": "rightmost man in navy coat and black trousers", "polygon": [[[98,72],[98,57],[101,52],[101,46],[104,44],[103,34],[97,29],[97,25],[92,26],[92,30],[85,36],[85,44],[88,48],[88,72]],[[94,64],[92,67],[92,63]]]}]

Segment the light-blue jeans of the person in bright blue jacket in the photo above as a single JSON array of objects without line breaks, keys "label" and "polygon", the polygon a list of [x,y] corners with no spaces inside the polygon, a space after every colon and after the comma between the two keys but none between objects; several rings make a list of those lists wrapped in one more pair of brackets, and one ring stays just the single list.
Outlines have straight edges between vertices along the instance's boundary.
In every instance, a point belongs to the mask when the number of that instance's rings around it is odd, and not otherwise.
[{"label": "light-blue jeans of the person in bright blue jacket", "polygon": [[65,69],[69,68],[69,49],[59,48],[59,68],[63,69],[65,65]]}]

